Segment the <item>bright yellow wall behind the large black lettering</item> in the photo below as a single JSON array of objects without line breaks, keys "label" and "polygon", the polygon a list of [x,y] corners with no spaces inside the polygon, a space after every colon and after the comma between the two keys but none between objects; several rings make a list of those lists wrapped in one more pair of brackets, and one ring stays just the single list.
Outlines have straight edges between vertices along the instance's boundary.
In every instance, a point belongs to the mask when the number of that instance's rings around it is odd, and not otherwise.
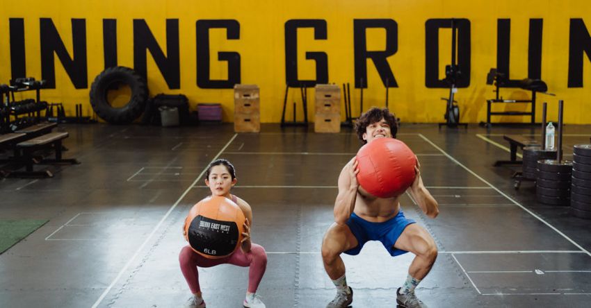
[{"label": "bright yellow wall behind the large black lettering", "polygon": [[[117,19],[119,65],[133,67],[133,19],[145,19],[163,51],[165,19],[179,19],[181,89],[168,89],[159,69],[148,54],[148,85],[152,95],[183,93],[194,109],[198,102],[222,103],[225,121],[233,119],[232,89],[200,89],[196,82],[195,22],[199,19],[236,19],[240,23],[240,39],[226,40],[225,30],[210,32],[211,78],[227,78],[227,65],[218,62],[218,51],[241,54],[242,83],[257,84],[261,89],[261,121],[281,119],[285,88],[284,24],[289,19],[325,19],[327,40],[314,40],[311,28],[298,31],[298,74],[314,79],[314,61],[305,59],[306,51],[324,51],[328,55],[331,83],[352,83],[354,71],[353,19],[394,19],[398,24],[398,51],[388,58],[398,81],[390,89],[390,106],[403,122],[443,121],[447,89],[425,86],[425,22],[435,18],[466,18],[471,22],[470,86],[459,89],[456,99],[462,112],[461,121],[485,120],[485,100],[492,98],[493,87],[485,85],[486,74],[496,67],[496,22],[511,19],[510,78],[527,75],[528,23],[531,18],[544,19],[542,42],[542,79],[556,97],[540,94],[538,102],[549,102],[549,117],[556,119],[557,101],[565,100],[565,123],[591,123],[588,115],[591,97],[590,60],[583,58],[583,87],[568,88],[569,20],[581,18],[591,30],[591,6],[587,0],[572,1],[473,1],[473,0],[399,0],[399,1],[175,1],[175,0],[101,0],[101,1],[20,1],[18,5],[2,0],[0,10],[0,83],[10,79],[9,18],[24,18],[26,74],[40,79],[39,19],[51,18],[72,55],[71,19],[86,19],[88,52],[88,89],[74,89],[70,78],[56,58],[56,89],[42,91],[42,99],[63,102],[69,114],[74,103],[84,103],[89,112],[88,92],[95,76],[104,68],[102,19]],[[448,64],[451,31],[440,32],[439,72]],[[368,49],[384,49],[384,31],[367,32]],[[368,85],[364,89],[364,107],[384,105],[384,86],[373,63],[368,60]],[[291,91],[289,103],[298,101],[298,91]],[[298,95],[295,95],[298,93]],[[528,92],[503,89],[503,96],[520,98]],[[359,113],[359,89],[352,88],[353,115]],[[313,92],[309,92],[310,98]],[[313,119],[309,99],[309,118]],[[506,108],[511,108],[510,106]],[[503,110],[505,106],[497,105]],[[526,107],[519,108],[526,110]],[[540,119],[541,108],[537,108]],[[300,108],[298,108],[298,111]],[[301,114],[299,114],[301,119]],[[287,117],[291,119],[291,108]],[[343,115],[344,117],[344,115]],[[515,117],[496,117],[494,121],[515,121]],[[524,118],[524,121],[527,119]]]}]

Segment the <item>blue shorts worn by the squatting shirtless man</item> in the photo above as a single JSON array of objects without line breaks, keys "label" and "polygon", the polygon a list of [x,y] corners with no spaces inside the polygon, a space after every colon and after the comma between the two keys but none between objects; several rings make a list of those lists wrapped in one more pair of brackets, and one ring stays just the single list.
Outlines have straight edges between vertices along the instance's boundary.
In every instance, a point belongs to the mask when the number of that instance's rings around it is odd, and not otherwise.
[{"label": "blue shorts worn by the squatting shirtless man", "polygon": [[396,243],[396,240],[400,237],[406,226],[411,223],[415,223],[415,221],[406,219],[401,209],[396,216],[382,223],[366,221],[353,213],[347,220],[347,225],[353,235],[355,235],[359,245],[345,251],[345,253],[347,255],[359,255],[361,248],[363,248],[367,241],[381,241],[392,257],[408,253],[405,250],[394,248],[394,243]]}]

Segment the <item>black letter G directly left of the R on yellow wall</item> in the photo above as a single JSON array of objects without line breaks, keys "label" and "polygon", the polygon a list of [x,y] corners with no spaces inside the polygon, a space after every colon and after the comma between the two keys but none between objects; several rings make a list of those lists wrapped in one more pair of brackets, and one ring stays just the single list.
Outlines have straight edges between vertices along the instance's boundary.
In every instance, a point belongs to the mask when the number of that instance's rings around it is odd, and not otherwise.
[{"label": "black letter G directly left of the R on yellow wall", "polygon": [[306,59],[316,62],[316,80],[298,79],[298,28],[314,28],[314,40],[327,39],[324,19],[290,19],[285,23],[285,79],[289,87],[314,87],[328,83],[328,56],[321,51],[306,51]]}]

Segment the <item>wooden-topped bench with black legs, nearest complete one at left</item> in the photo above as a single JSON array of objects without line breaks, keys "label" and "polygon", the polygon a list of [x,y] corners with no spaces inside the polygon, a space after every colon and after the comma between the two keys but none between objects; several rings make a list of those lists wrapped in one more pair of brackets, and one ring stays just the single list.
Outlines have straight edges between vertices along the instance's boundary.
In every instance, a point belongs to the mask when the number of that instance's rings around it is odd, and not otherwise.
[{"label": "wooden-topped bench with black legs, nearest complete one at left", "polygon": [[[10,173],[10,176],[51,178],[54,175],[49,170],[33,171],[33,164],[79,164],[75,159],[63,159],[62,157],[62,140],[67,137],[67,132],[50,132],[49,134],[19,142],[17,144],[17,150],[22,151],[22,155],[19,152],[19,159],[24,163],[25,171],[15,171]],[[35,162],[33,158],[35,151],[51,147],[54,148],[56,153],[55,159],[42,159],[39,162]]]}]

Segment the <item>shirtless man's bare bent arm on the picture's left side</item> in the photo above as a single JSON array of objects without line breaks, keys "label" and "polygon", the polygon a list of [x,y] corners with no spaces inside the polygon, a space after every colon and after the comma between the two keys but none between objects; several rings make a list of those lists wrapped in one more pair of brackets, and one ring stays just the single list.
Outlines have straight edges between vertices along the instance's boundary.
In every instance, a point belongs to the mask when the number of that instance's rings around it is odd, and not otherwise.
[{"label": "shirtless man's bare bent arm on the picture's left side", "polygon": [[343,167],[339,175],[339,194],[334,201],[334,221],[339,225],[344,225],[355,209],[355,199],[359,189],[357,173],[359,168],[354,158]]}]

